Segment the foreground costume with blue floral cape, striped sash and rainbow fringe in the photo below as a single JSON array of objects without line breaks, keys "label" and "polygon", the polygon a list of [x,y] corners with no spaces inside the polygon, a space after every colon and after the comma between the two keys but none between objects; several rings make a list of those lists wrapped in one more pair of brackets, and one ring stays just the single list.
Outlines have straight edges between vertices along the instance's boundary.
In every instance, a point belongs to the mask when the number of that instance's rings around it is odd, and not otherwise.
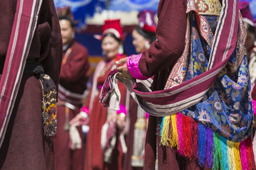
[{"label": "foreground costume with blue floral cape, striped sash and rainbow fringe", "polygon": [[154,115],[144,169],[255,169],[238,1],[160,1],[158,17],[157,41],[127,59],[134,78],[154,74],[153,91],[149,79],[122,80]]}]

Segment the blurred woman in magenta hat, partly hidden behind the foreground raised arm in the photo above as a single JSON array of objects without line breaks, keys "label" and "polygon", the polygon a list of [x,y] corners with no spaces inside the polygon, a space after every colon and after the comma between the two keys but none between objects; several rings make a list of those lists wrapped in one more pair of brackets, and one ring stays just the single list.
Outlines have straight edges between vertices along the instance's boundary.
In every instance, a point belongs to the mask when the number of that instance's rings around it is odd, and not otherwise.
[{"label": "blurred woman in magenta hat, partly hidden behind the foreground raised arm", "polygon": [[[132,31],[132,44],[137,53],[142,53],[149,49],[156,40],[156,23],[154,21],[154,11],[144,10],[139,12],[139,26]],[[129,95],[129,132],[127,134],[127,154],[124,169],[143,169],[144,152],[146,141],[146,129],[149,114],[134,101]]]}]

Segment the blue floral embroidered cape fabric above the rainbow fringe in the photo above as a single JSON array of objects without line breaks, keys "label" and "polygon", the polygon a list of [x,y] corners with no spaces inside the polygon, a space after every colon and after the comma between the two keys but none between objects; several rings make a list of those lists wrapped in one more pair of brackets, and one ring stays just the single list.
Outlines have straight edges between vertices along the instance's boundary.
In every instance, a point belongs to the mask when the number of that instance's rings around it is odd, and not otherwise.
[{"label": "blue floral embroidered cape fabric above the rainbow fringe", "polygon": [[[210,29],[215,33],[218,16],[205,16]],[[211,38],[211,37],[210,37]],[[187,70],[186,80],[192,79],[207,71],[210,46],[199,34],[195,13],[191,15],[191,60]],[[235,63],[236,54],[240,52],[239,45],[230,57],[229,62]],[[250,96],[250,76],[247,66],[247,55],[242,59],[235,73],[223,69],[218,79],[195,106],[181,111],[199,123],[218,132],[221,136],[233,142],[245,140],[252,132],[252,100]]]}]

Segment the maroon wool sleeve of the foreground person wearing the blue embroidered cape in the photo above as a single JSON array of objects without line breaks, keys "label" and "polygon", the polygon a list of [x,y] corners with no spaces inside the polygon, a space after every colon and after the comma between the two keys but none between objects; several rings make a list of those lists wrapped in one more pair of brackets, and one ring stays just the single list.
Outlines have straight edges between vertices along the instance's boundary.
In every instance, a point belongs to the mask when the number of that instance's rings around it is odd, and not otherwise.
[{"label": "maroon wool sleeve of the foreground person wearing the blue embroidered cape", "polygon": [[159,1],[157,15],[157,40],[139,60],[139,71],[146,77],[173,66],[185,46],[186,0]]}]

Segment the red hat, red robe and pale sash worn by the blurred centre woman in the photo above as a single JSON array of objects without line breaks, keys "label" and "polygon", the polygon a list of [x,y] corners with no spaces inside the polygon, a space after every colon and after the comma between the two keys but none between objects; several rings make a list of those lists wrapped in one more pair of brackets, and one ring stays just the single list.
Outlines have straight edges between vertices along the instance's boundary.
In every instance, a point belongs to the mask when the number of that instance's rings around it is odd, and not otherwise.
[{"label": "red hat, red robe and pale sash worn by the blurred centre woman", "polygon": [[[103,26],[103,35],[105,33],[114,33],[117,38],[122,38],[122,28],[119,20],[107,20]],[[97,64],[92,79],[92,91],[90,100],[87,104],[89,108],[90,130],[87,133],[85,149],[85,169],[122,169],[124,162],[124,152],[126,145],[124,142],[124,131],[116,128],[114,122],[106,123],[107,116],[110,116],[112,110],[104,108],[99,102],[100,90],[104,84],[107,74],[117,67],[115,62],[124,55],[117,55],[113,60],[102,60]],[[121,103],[125,105],[126,89],[122,83],[118,84],[122,93]],[[117,113],[125,112],[125,107]],[[105,125],[102,129],[102,126]],[[104,133],[104,134],[102,134]],[[116,140],[111,140],[116,139]],[[112,142],[110,142],[110,140]],[[105,147],[104,149],[102,149]]]}]

